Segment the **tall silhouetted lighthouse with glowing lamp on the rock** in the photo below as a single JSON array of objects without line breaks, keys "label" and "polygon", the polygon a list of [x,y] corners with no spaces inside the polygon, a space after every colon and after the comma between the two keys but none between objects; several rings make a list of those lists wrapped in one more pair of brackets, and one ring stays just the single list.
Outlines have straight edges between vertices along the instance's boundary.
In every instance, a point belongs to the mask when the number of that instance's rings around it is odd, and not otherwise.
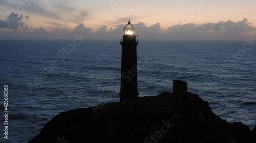
[{"label": "tall silhouetted lighthouse with glowing lamp on the rock", "polygon": [[121,60],[121,87],[120,87],[120,103],[125,99],[132,101],[133,107],[137,106],[138,99],[138,83],[137,83],[137,45],[135,27],[129,22],[124,25],[123,39],[120,41],[122,45]]}]

